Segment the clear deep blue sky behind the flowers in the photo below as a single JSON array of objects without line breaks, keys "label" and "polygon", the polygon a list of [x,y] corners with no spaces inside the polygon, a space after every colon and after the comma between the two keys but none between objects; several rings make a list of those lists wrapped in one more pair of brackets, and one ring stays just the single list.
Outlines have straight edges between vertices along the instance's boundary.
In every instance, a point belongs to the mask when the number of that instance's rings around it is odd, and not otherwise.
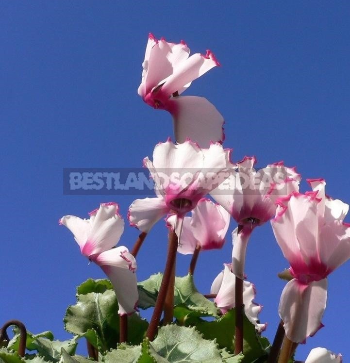
[{"label": "clear deep blue sky behind the flowers", "polygon": [[[63,316],[75,287],[102,271],[87,265],[65,214],[81,217],[114,200],[126,217],[135,196],[65,196],[65,167],[139,167],[172,136],[170,115],[137,95],[149,32],[185,40],[192,53],[211,49],[222,64],[193,82],[224,115],[233,160],[256,155],[258,167],[284,160],[303,181],[323,177],[326,192],[350,202],[350,3],[348,1],[0,1],[1,302],[0,323],[67,339]],[[346,218],[350,222],[350,217]],[[230,231],[235,228],[231,223]],[[132,247],[127,227],[120,244]],[[163,222],[138,257],[144,280],[163,269]],[[231,238],[200,256],[198,288],[231,259]],[[184,275],[189,257],[180,256]],[[263,304],[272,339],[288,267],[270,225],[250,240],[246,272]],[[329,277],[325,328],[298,349],[327,347],[350,359],[350,263]],[[82,344],[84,344],[82,342]]]}]

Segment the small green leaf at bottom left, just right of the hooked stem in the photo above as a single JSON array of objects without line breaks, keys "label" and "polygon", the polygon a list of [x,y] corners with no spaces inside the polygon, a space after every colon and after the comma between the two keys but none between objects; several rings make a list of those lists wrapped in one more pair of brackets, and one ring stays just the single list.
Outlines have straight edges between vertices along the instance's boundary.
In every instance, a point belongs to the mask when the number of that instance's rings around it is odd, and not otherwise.
[{"label": "small green leaf at bottom left, just right of the hooked stem", "polygon": [[64,349],[69,355],[75,353],[77,347],[76,337],[65,340],[63,342],[59,340],[51,341],[48,338],[37,338],[33,341],[33,346],[38,351],[39,355],[44,357],[46,360],[52,362],[58,362],[61,358],[61,350]]}]

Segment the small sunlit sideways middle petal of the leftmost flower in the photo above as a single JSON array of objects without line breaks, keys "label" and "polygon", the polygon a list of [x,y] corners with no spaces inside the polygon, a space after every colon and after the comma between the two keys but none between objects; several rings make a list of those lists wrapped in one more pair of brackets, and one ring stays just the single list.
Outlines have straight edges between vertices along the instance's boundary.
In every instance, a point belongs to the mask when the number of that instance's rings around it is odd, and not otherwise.
[{"label": "small sunlit sideways middle petal of the leftmost flower", "polygon": [[94,257],[94,262],[99,266],[109,265],[120,268],[127,268],[135,271],[137,268],[136,260],[125,246],[111,248],[103,251]]}]

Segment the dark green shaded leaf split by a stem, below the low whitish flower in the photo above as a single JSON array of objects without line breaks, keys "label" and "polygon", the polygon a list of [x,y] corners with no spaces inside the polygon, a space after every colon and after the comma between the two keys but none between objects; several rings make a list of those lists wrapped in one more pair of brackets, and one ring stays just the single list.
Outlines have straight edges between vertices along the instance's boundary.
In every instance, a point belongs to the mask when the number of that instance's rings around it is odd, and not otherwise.
[{"label": "dark green shaded leaf split by a stem, below the low whitish flower", "polygon": [[[199,319],[196,328],[204,335],[206,339],[217,339],[217,344],[220,348],[227,348],[229,351],[234,351],[234,325],[235,311],[228,311],[224,316],[215,321],[204,321]],[[250,323],[248,318],[243,319],[243,354],[242,363],[250,363],[257,358],[266,355],[264,346],[260,342],[260,336],[257,334],[255,327]],[[266,339],[266,338],[264,338]]]}]

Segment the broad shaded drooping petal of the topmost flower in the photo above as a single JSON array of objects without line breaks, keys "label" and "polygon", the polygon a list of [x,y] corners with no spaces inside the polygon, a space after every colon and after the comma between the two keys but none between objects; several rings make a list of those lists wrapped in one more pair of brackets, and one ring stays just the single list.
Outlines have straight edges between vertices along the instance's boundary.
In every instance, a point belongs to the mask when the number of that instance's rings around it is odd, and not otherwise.
[{"label": "broad shaded drooping petal of the topmost flower", "polygon": [[190,138],[202,148],[208,148],[211,141],[223,141],[224,118],[207,99],[197,96],[174,97],[167,101],[166,110],[173,117],[178,143]]}]

